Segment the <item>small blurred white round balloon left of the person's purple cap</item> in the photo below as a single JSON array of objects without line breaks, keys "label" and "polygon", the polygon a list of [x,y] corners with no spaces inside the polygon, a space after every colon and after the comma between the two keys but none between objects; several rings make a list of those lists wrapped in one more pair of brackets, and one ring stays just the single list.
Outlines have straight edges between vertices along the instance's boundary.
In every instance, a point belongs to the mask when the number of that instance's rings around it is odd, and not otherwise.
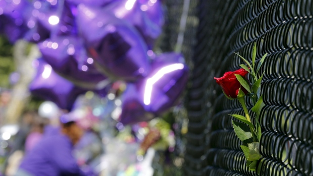
[{"label": "small blurred white round balloon left of the person's purple cap", "polygon": [[59,107],[51,101],[44,101],[38,108],[38,114],[43,118],[55,118],[59,115]]}]

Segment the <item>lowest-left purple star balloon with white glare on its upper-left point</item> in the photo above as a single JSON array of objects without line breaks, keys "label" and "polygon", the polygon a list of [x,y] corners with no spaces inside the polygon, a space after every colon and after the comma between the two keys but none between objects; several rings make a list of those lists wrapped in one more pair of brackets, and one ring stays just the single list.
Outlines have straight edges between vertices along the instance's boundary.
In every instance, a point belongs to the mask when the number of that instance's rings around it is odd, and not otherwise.
[{"label": "lowest-left purple star balloon with white glare on its upper-left point", "polygon": [[37,74],[29,85],[33,95],[53,101],[62,109],[71,110],[78,95],[86,92],[59,76],[42,59],[36,60],[34,66]]}]

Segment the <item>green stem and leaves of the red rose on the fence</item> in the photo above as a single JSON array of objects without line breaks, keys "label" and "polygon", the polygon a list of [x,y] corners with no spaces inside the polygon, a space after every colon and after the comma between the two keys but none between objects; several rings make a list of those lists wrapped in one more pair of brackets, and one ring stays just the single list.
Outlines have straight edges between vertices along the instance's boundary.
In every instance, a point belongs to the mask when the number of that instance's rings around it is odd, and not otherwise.
[{"label": "green stem and leaves of the red rose on the fence", "polygon": [[[235,53],[235,54],[237,54],[237,53]],[[251,80],[251,82],[252,82],[252,86],[251,86],[250,83],[245,78],[243,78],[241,75],[235,74],[239,83],[250,93],[249,97],[251,98],[251,101],[253,103],[253,107],[251,110],[252,110],[252,112],[255,113],[256,121],[255,121],[255,124],[251,123],[250,115],[249,115],[249,112],[247,110],[247,107],[245,104],[245,99],[244,99],[244,96],[246,96],[246,95],[239,88],[237,99],[243,107],[245,117],[242,115],[239,115],[239,114],[231,114],[231,115],[234,118],[238,119],[239,121],[243,122],[244,124],[240,123],[240,122],[235,122],[235,121],[232,121],[232,124],[233,124],[233,128],[234,128],[234,131],[235,131],[237,137],[243,142],[243,145],[240,145],[240,148],[242,149],[242,151],[245,155],[245,158],[247,160],[247,166],[249,167],[249,170],[256,171],[256,165],[259,162],[260,158],[262,157],[262,155],[259,153],[259,145],[260,145],[259,141],[260,141],[260,138],[262,136],[262,131],[261,131],[261,127],[260,127],[258,120],[259,120],[260,111],[265,106],[265,104],[263,102],[263,95],[260,94],[261,82],[262,82],[262,78],[263,78],[264,73],[259,78],[257,78],[257,73],[258,73],[260,67],[262,66],[262,64],[264,63],[264,60],[267,56],[267,53],[260,59],[256,69],[255,69],[256,43],[254,43],[253,50],[252,50],[252,66],[241,55],[239,55],[239,54],[237,54],[237,55],[247,65],[246,66],[244,64],[241,64],[239,66],[241,68],[243,68],[244,70],[246,70],[247,72],[249,72],[253,78]],[[256,72],[254,72],[254,70]],[[225,96],[227,98],[229,98],[229,96],[227,96],[227,95],[225,95]],[[232,99],[232,98],[229,98],[229,99]],[[260,162],[262,162],[262,160],[260,160]],[[258,170],[258,172],[259,172],[259,170]]]}]

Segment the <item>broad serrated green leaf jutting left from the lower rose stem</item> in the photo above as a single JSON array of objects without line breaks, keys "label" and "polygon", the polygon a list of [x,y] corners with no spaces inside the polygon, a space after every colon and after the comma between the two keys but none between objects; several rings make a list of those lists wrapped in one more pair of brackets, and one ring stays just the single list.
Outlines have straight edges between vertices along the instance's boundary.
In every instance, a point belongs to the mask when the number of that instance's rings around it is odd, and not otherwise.
[{"label": "broad serrated green leaf jutting left from the lower rose stem", "polygon": [[232,124],[235,133],[237,137],[240,139],[240,141],[245,143],[253,142],[252,133],[250,132],[250,128],[247,125],[236,121],[232,121]]}]

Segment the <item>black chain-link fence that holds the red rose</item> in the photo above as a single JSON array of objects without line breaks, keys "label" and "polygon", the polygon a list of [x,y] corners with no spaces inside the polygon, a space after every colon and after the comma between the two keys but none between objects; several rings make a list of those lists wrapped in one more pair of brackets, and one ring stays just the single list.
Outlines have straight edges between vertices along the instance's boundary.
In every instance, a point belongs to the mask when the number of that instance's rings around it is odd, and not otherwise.
[{"label": "black chain-link fence that holds the red rose", "polygon": [[268,53],[259,72],[266,104],[259,175],[313,175],[313,1],[199,0],[197,12],[185,175],[256,175],[228,115],[244,112],[214,80],[243,64],[234,52],[251,63],[254,42],[257,62]]}]

